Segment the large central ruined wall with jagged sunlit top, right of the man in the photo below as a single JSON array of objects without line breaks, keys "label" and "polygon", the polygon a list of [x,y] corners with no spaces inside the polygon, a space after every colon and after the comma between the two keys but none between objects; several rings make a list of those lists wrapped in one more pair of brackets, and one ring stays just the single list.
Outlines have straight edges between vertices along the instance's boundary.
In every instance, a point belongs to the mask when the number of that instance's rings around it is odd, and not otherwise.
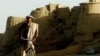
[{"label": "large central ruined wall with jagged sunlit top, right of the man", "polygon": [[[37,52],[45,52],[67,47],[72,41],[70,38],[68,38],[69,41],[67,41],[66,37],[66,21],[69,14],[70,9],[59,4],[49,4],[46,5],[46,7],[38,8],[31,12],[31,15],[37,18],[34,22],[39,24],[39,37],[37,39],[38,46],[36,49],[40,50],[37,50]],[[39,15],[42,16],[40,17]],[[44,48],[45,46],[46,48]]]}]

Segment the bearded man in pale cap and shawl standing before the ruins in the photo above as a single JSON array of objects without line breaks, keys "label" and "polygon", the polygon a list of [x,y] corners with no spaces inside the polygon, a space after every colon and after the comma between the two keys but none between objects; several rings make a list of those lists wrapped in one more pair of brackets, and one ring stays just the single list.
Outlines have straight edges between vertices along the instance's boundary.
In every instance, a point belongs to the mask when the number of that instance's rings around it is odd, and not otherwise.
[{"label": "bearded man in pale cap and shawl standing before the ruins", "polygon": [[31,48],[35,53],[35,48],[33,43],[36,41],[36,37],[38,37],[38,24],[33,23],[34,17],[26,16],[26,22],[21,26],[21,39],[23,42],[23,54],[22,56],[26,56],[26,53]]}]

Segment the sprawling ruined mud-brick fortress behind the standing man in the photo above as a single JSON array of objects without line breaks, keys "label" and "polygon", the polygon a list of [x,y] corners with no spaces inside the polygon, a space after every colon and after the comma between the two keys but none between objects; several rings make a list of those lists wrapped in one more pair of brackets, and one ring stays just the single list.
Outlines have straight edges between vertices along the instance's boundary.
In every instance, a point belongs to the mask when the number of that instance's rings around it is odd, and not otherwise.
[{"label": "sprawling ruined mud-brick fortress behind the standing man", "polygon": [[[69,8],[49,4],[32,10],[39,24],[37,56],[87,55],[86,50],[100,48],[100,1],[89,0]],[[4,34],[0,34],[0,56],[20,56],[19,27],[25,18],[10,16]],[[9,52],[10,51],[10,52]]]}]

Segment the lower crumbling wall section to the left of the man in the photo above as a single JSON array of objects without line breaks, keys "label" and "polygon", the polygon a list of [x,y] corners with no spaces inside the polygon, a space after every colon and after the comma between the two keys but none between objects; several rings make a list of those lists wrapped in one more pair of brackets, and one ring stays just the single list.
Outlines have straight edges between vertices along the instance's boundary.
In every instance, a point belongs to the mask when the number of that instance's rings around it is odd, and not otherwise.
[{"label": "lower crumbling wall section to the left of the man", "polygon": [[20,36],[18,29],[24,18],[9,16],[4,36],[2,37],[0,46],[0,56],[19,56],[21,53]]}]

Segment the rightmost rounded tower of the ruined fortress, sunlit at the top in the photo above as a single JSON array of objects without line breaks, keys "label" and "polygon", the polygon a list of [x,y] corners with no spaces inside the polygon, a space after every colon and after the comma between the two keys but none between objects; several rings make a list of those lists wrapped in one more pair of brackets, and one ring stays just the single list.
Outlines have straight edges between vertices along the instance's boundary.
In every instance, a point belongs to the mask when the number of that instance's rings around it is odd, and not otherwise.
[{"label": "rightmost rounded tower of the ruined fortress, sunlit at the top", "polygon": [[[97,4],[93,5],[96,8],[90,9],[88,5],[90,3],[83,3],[80,6],[81,14],[77,22],[74,41],[83,42],[85,51],[88,48],[94,48],[97,50],[100,48],[100,14],[99,10],[96,10]],[[91,5],[92,6],[92,5]],[[87,11],[89,9],[89,11]],[[84,52],[85,52],[84,51]],[[97,50],[99,52],[99,50]]]}]

